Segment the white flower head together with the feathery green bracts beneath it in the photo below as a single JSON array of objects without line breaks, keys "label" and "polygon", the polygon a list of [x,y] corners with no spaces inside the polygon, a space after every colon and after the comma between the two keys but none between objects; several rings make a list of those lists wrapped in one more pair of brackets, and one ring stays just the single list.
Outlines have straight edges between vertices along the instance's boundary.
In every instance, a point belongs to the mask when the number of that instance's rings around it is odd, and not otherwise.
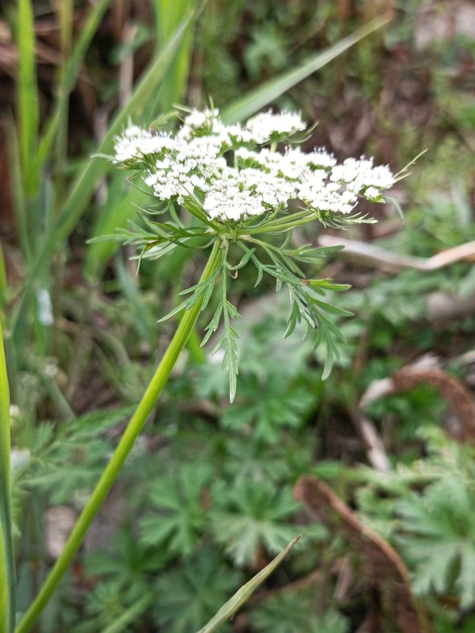
[{"label": "white flower head together with the feathery green bracts beneath it", "polygon": [[[141,222],[115,238],[138,246],[139,259],[160,258],[179,247],[203,249],[215,241],[220,254],[212,274],[182,292],[185,301],[163,319],[189,310],[198,301],[204,310],[220,278],[217,308],[203,344],[222,323],[213,353],[224,349],[232,401],[238,374],[238,334],[231,321],[239,313],[227,299],[227,280],[236,277],[243,266],[254,265],[257,284],[266,274],[276,279],[277,290],[282,285],[289,290],[287,335],[299,322],[317,330],[315,344],[326,345],[323,377],[327,377],[337,356],[335,342],[343,339],[331,315],[350,313],[327,303],[324,296],[346,286],[328,279],[307,279],[301,266],[321,259],[329,249],[294,248],[291,232],[313,220],[333,228],[373,222],[354,212],[358,200],[383,202],[384,191],[396,177],[388,166],[374,166],[372,159],[348,158],[338,164],[322,148],[301,151],[298,144],[308,139],[311,130],[306,130],[299,113],[268,111],[245,125],[224,125],[214,108],[186,111],[176,132],[163,130],[168,119],[163,117],[151,130],[131,125],[116,141],[112,160],[142,177],[160,202],[140,212]],[[284,151],[277,151],[282,146]],[[187,222],[186,213],[179,213],[178,207],[199,222]],[[152,219],[165,213],[168,220]]]}]

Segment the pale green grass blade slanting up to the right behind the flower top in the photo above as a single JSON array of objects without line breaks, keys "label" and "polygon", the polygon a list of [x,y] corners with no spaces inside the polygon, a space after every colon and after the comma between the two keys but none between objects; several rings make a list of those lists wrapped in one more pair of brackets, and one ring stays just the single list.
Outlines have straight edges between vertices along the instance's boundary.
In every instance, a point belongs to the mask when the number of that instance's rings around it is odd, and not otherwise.
[{"label": "pale green grass blade slanting up to the right behind the flower top", "polygon": [[390,19],[389,15],[383,15],[371,20],[371,22],[358,28],[354,33],[344,37],[336,44],[333,44],[333,46],[322,51],[322,53],[312,55],[297,68],[281,73],[281,75],[277,75],[277,77],[255,88],[244,97],[241,97],[241,99],[235,101],[231,106],[225,108],[221,113],[222,120],[225,123],[235,123],[253,115],[274,99],[277,99],[281,94],[291,89],[291,87],[298,84],[298,82],[308,77],[308,75],[319,70],[322,66],[325,66],[338,57],[338,55],[344,53],[348,48],[357,44],[357,42],[377,28],[381,28],[384,24],[390,22]]}]

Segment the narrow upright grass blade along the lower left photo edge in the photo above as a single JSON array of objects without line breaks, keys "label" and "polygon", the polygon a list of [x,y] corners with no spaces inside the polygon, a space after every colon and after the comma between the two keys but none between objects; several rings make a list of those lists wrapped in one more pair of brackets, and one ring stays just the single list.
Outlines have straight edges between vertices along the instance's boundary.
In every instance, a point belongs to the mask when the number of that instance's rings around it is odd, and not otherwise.
[{"label": "narrow upright grass blade along the lower left photo edge", "polygon": [[15,557],[11,529],[10,396],[0,316],[0,630],[15,625]]}]

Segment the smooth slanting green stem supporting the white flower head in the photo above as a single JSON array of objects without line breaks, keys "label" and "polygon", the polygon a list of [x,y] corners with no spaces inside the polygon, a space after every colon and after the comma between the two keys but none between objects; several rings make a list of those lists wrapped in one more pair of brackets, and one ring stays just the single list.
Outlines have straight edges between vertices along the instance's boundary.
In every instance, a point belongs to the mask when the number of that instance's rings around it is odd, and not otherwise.
[{"label": "smooth slanting green stem supporting the white flower head", "polygon": [[[221,258],[222,251],[220,250],[219,242],[216,241],[213,245],[208,263],[206,263],[205,270],[203,270],[203,274],[201,275],[201,281],[210,277],[210,275],[220,265]],[[27,633],[27,631],[32,628],[47,601],[51,598],[51,594],[53,594],[60,583],[61,578],[73,559],[73,556],[79,549],[82,539],[84,538],[89,525],[91,525],[92,519],[98,513],[106,495],[110,491],[120,468],[124,464],[124,461],[136,440],[136,437],[141,432],[144,423],[153,409],[153,406],[155,406],[156,400],[158,396],[160,396],[160,392],[162,392],[168,376],[170,375],[180,352],[184,348],[187,338],[193,329],[193,325],[200,314],[201,303],[202,299],[197,301],[193,308],[184,314],[172,341],[170,341],[170,344],[168,345],[167,351],[165,351],[165,354],[163,355],[160,365],[158,365],[155,375],[151,379],[134,415],[130,418],[130,422],[125,429],[110,462],[102,473],[101,479],[99,479],[98,484],[96,484],[96,487],[92,491],[91,496],[84,506],[84,510],[80,514],[77,523],[66,541],[60,557],[56,560],[56,563],[54,563],[54,567],[51,569],[51,572],[49,572],[49,576],[44,582],[44,585],[41,587],[39,594],[36,596],[25,615],[23,615],[22,620],[20,620],[20,623],[15,629],[15,633]]]}]

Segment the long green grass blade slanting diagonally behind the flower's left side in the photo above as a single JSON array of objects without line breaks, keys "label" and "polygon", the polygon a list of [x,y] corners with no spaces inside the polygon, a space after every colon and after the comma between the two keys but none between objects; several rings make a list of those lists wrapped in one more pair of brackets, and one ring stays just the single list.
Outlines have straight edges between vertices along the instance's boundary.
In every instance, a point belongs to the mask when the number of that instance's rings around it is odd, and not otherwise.
[{"label": "long green grass blade slanting diagonally behind the flower's left side", "polygon": [[[192,15],[193,13],[190,13],[182,20],[179,27],[175,30],[174,35],[170,37],[167,44],[163,47],[162,51],[160,51],[160,54],[151,62],[148,70],[143,73],[129,103],[115,116],[105,138],[98,147],[98,154],[110,153],[113,149],[113,138],[122,130],[128,118],[130,116],[141,115],[148,100],[158,88],[158,84],[160,84],[168,65],[172,61],[177,46],[181,41]],[[58,216],[53,230],[51,230],[47,236],[46,242],[30,270],[27,284],[23,290],[22,300],[13,319],[13,334],[15,337],[18,328],[22,327],[22,322],[25,319],[35,280],[39,277],[47,261],[68,239],[75,224],[87,207],[98,180],[108,172],[110,166],[111,163],[108,163],[108,161],[103,158],[91,158],[91,160],[87,161],[84,170],[82,170],[77,179],[72,183],[65,206],[60,216]]]}]

